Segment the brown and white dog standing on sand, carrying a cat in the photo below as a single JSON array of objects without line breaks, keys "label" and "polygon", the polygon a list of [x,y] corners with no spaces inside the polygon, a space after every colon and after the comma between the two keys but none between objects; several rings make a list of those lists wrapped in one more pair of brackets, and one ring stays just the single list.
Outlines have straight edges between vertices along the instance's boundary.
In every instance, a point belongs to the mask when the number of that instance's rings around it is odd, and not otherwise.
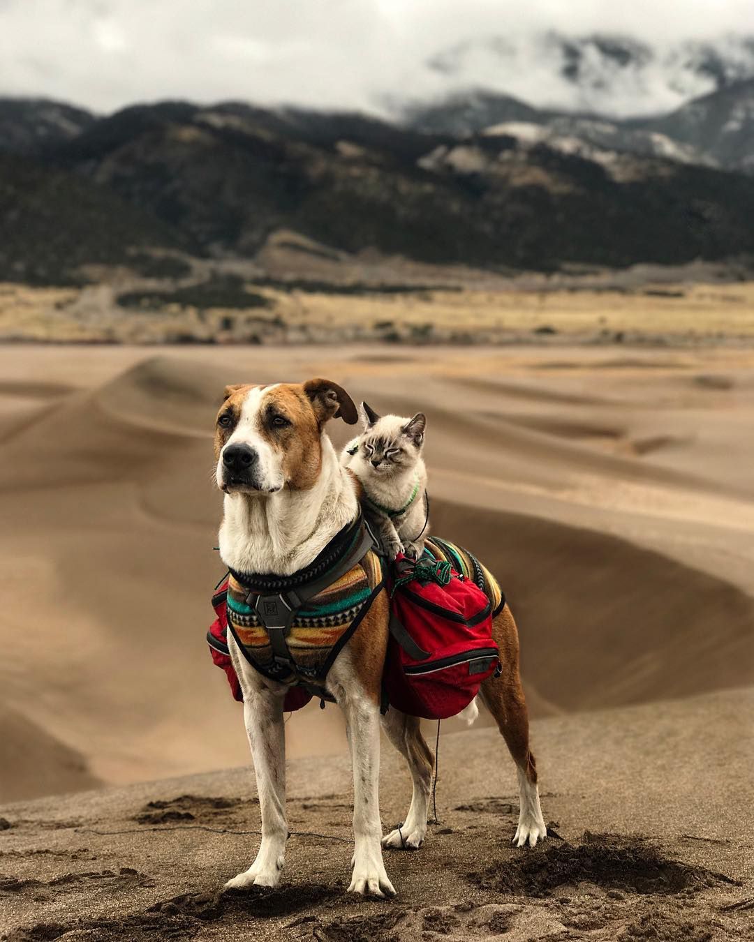
[{"label": "brown and white dog standing on sand, carrying a cat", "polygon": [[[359,512],[357,484],[341,467],[324,431],[335,416],[349,424],[357,413],[335,382],[310,380],[270,386],[227,386],[215,434],[216,479],[224,493],[220,552],[232,569],[289,576],[302,570]],[[518,675],[516,623],[507,606],[495,619],[502,674],[484,683],[481,696],[516,761],[520,788],[518,847],[547,836],[539,806],[536,766],[529,749],[529,720]],[[388,637],[387,594],[336,658],[327,690],[342,708],[353,766],[352,881],[349,890],[393,895],[383,847],[417,848],[427,831],[434,758],[415,717],[391,707],[382,723],[404,756],[413,781],[402,829],[382,836],[378,801],[380,688]],[[283,870],[286,840],[284,684],[258,674],[228,636],[243,690],[243,713],[254,757],[262,839],[254,863],[226,886],[274,886]]]}]

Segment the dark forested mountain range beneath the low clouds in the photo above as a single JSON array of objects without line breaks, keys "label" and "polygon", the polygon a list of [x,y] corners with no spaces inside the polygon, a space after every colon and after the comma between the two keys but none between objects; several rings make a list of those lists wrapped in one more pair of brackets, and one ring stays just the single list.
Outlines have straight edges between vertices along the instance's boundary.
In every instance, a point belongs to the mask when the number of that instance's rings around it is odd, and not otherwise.
[{"label": "dark forested mountain range beneath the low clouds", "polygon": [[[651,61],[638,45],[590,43],[568,60],[573,81],[594,48],[615,69]],[[390,121],[188,102],[97,116],[0,99],[0,280],[69,284],[88,263],[137,268],[156,249],[254,258],[281,230],[499,271],[754,255],[751,48],[722,64],[697,49],[715,88],[647,118],[490,89]],[[434,68],[461,70],[467,55]]]}]

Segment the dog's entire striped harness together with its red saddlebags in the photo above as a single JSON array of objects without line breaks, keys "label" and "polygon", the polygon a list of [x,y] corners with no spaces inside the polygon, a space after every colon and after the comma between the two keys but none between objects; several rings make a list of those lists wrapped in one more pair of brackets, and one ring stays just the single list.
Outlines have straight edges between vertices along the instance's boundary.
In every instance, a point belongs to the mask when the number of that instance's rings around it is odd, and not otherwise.
[{"label": "dog's entire striped harness together with its red saddlebags", "polygon": [[[218,618],[206,638],[212,659],[227,674],[237,700],[242,699],[242,693],[229,657],[228,630],[243,658],[256,671],[288,685],[286,709],[303,707],[312,695],[321,701],[333,701],[324,686],[328,671],[387,581],[391,594],[390,644],[395,642],[399,647],[393,646],[393,657],[388,658],[386,665],[383,710],[395,700],[413,715],[436,718],[435,713],[440,715],[441,709],[457,712],[466,706],[464,697],[469,684],[473,686],[474,680],[482,679],[477,676],[477,665],[482,664],[488,672],[490,664],[497,662],[497,648],[484,649],[480,654],[476,637],[484,635],[481,626],[484,618],[491,621],[505,605],[497,580],[468,550],[439,537],[426,541],[416,562],[396,560],[389,574],[385,572],[382,552],[375,551],[376,545],[366,522],[359,517],[341,530],[306,569],[290,577],[229,571],[220,591],[213,596]],[[470,620],[449,614],[449,605],[453,604],[450,596],[440,593],[439,605],[430,599],[431,583],[451,588],[452,570],[462,582],[475,587],[476,598],[484,603],[484,608]],[[403,583],[408,583],[407,595],[402,591]],[[405,609],[395,593],[398,591],[405,600],[416,592],[418,584],[428,586],[421,590],[424,600],[414,597],[413,608]],[[460,588],[454,594],[456,601],[466,597],[467,602],[470,598],[471,604],[478,605]],[[449,628],[449,618],[453,624],[459,624]],[[426,650],[417,643],[417,638]],[[412,659],[415,666],[409,663]],[[405,677],[393,676],[399,668],[406,676],[412,674],[410,690],[406,688]],[[411,690],[414,699],[409,698],[401,707],[401,697],[405,699]],[[432,691],[434,697],[429,696]],[[434,706],[422,707],[428,698]]]}]

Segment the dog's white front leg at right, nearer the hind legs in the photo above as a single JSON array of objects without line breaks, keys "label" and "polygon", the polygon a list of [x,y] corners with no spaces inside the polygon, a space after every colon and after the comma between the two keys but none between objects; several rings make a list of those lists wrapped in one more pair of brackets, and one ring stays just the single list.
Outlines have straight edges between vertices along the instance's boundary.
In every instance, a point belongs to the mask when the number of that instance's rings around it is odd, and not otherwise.
[{"label": "dog's white front leg at right, nearer the hind legs", "polygon": [[349,892],[395,896],[387,879],[380,821],[380,707],[361,694],[341,701],[353,763],[353,875]]}]

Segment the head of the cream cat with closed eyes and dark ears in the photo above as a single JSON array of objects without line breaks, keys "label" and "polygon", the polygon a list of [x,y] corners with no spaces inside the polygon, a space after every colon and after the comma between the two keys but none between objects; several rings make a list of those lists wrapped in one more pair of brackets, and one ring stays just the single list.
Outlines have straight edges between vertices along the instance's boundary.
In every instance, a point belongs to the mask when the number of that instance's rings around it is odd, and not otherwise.
[{"label": "head of the cream cat with closed eyes and dark ears", "polygon": [[370,473],[389,476],[412,468],[421,455],[427,417],[378,415],[366,402],[360,414],[364,431],[358,439],[357,456]]}]

